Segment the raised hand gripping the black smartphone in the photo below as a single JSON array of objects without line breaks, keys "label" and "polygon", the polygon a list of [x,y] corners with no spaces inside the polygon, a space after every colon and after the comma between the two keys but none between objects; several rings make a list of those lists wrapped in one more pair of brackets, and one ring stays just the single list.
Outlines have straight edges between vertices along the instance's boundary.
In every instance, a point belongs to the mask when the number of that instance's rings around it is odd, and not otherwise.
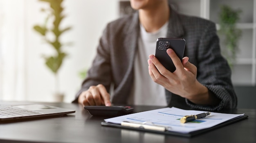
[{"label": "raised hand gripping the black smartphone", "polygon": [[198,95],[208,95],[208,89],[196,79],[197,67],[189,62],[189,57],[184,57],[181,62],[171,48],[166,52],[171,57],[176,70],[173,73],[168,71],[154,55],[149,55],[148,71],[153,81],[191,101],[201,100]]}]

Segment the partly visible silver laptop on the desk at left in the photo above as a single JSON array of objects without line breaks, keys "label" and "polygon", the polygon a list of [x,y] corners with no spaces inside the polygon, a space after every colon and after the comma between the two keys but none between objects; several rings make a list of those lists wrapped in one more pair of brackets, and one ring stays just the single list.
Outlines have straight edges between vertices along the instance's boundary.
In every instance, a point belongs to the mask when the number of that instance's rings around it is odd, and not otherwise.
[{"label": "partly visible silver laptop on the desk at left", "polygon": [[16,102],[16,104],[8,104],[8,102],[4,102],[4,104],[0,104],[0,122],[70,113],[75,113],[75,110],[36,103],[18,104]]}]

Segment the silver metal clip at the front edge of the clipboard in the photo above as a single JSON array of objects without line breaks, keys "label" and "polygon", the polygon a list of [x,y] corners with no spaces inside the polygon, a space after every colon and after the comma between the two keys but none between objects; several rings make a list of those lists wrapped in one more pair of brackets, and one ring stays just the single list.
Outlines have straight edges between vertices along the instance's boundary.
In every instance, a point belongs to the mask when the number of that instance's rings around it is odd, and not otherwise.
[{"label": "silver metal clip at the front edge of the clipboard", "polygon": [[130,127],[130,128],[140,128],[140,129],[145,129],[145,130],[154,130],[154,131],[160,131],[160,132],[165,132],[169,128],[171,128],[171,127],[157,126],[149,121],[145,121],[143,123],[123,121],[123,122],[121,122],[121,126]]}]

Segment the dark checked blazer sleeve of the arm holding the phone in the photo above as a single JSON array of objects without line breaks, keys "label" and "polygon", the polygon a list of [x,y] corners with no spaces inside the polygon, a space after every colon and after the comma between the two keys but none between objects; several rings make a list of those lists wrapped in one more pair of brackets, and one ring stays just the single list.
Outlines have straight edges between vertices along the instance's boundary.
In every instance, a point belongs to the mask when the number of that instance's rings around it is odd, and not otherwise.
[{"label": "dark checked blazer sleeve of the arm holding the phone", "polygon": [[193,108],[202,110],[221,110],[236,108],[237,97],[231,82],[231,69],[220,53],[216,26],[210,23],[205,28],[198,47],[198,81],[207,87],[220,100],[217,106],[201,106],[186,100]]}]

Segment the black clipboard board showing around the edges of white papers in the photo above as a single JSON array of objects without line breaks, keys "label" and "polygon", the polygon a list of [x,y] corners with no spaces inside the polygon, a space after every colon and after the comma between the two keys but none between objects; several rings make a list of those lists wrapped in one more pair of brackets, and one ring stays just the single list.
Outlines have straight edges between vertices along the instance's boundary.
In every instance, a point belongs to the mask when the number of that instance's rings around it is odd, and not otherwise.
[{"label": "black clipboard board showing around the edges of white papers", "polygon": [[158,133],[158,134],[175,135],[175,136],[181,136],[181,137],[193,137],[193,136],[196,136],[196,135],[199,135],[199,134],[203,134],[205,132],[209,132],[211,130],[215,130],[217,128],[221,128],[223,126],[227,126],[227,125],[235,123],[237,121],[241,121],[243,119],[247,119],[247,118],[248,118],[248,115],[235,117],[233,119],[230,119],[230,120],[227,120],[225,122],[222,122],[221,124],[218,124],[218,125],[213,126],[211,128],[205,128],[205,129],[202,129],[202,130],[196,130],[196,131],[192,131],[192,132],[188,132],[188,133],[168,131],[168,130],[158,131],[158,130],[150,130],[150,129],[145,129],[145,128],[132,128],[132,127],[128,127],[128,126],[121,126],[121,124],[114,124],[114,123],[109,123],[109,122],[105,122],[105,121],[101,122],[101,126],[123,128],[123,129],[128,129],[128,130],[138,130],[138,131],[141,131],[141,132],[154,132],[154,133]]}]

